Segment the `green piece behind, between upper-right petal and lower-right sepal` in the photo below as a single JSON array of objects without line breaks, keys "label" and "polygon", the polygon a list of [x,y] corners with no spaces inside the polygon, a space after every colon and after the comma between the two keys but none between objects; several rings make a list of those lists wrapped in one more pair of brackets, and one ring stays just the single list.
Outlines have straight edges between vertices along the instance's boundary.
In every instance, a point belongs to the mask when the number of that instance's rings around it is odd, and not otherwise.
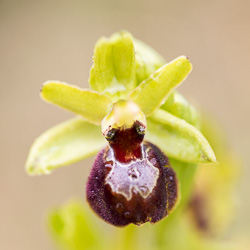
[{"label": "green piece behind, between upper-right petal and lower-right sepal", "polygon": [[173,91],[167,101],[161,106],[161,109],[184,119],[196,128],[200,128],[200,115],[196,109],[178,92]]}]

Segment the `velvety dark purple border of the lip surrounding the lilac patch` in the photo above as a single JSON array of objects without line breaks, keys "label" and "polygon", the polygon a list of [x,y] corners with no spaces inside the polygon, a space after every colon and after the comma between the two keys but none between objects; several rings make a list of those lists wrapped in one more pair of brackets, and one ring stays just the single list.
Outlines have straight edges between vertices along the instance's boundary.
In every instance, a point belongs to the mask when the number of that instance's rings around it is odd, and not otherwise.
[{"label": "velvety dark purple border of the lip surrounding the lilac patch", "polygon": [[92,167],[87,182],[87,200],[102,219],[115,226],[155,223],[168,215],[177,200],[177,180],[167,157],[149,142],[143,142],[142,148],[148,150],[148,160],[159,170],[156,185],[146,198],[134,191],[132,198],[127,200],[124,195],[113,192],[109,184],[105,184],[106,176],[112,164],[115,164],[110,160],[107,164],[109,147],[98,154]]}]

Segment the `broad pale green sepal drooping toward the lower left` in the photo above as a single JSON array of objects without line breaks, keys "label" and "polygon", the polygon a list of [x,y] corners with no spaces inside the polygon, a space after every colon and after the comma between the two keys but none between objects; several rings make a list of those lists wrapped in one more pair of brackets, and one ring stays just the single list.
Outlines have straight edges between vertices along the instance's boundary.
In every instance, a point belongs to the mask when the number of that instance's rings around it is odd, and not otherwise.
[{"label": "broad pale green sepal drooping toward the lower left", "polygon": [[106,144],[99,126],[76,117],[50,128],[35,140],[26,170],[30,175],[49,174],[97,153]]}]

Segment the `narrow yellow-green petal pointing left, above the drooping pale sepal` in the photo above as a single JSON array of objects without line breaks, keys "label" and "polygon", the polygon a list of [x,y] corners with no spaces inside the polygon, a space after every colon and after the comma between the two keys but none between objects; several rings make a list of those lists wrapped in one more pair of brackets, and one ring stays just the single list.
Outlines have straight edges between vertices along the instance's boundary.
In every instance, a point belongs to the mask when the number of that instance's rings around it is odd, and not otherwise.
[{"label": "narrow yellow-green petal pointing left, above the drooping pale sepal", "polygon": [[103,94],[57,81],[44,83],[41,97],[97,125],[101,124],[112,105],[111,100]]}]

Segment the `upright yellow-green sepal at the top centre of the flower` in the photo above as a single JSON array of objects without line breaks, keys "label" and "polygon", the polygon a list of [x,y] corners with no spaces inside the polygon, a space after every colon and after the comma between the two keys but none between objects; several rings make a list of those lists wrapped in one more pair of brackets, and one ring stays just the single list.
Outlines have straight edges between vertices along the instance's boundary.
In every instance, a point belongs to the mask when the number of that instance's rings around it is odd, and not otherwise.
[{"label": "upright yellow-green sepal at the top centre of the flower", "polygon": [[89,83],[115,101],[125,99],[135,88],[135,51],[129,33],[116,33],[96,43]]}]

